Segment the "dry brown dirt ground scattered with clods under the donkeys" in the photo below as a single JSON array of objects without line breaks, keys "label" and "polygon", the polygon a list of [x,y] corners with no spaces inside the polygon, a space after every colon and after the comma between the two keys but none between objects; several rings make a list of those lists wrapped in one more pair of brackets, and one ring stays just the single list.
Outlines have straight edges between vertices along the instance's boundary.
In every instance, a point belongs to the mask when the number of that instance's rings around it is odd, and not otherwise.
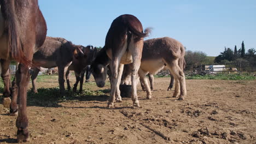
[{"label": "dry brown dirt ground scattered with clods under the donkeys", "polygon": [[[84,88],[109,89],[91,81]],[[169,77],[155,78],[151,100],[138,86],[141,108],[132,108],[132,100],[123,98],[108,109],[109,93],[57,106],[30,105],[27,143],[256,143],[255,80],[187,80],[184,101],[166,91],[169,82]],[[38,83],[57,86],[57,77]],[[0,143],[15,143],[16,117],[8,116],[2,104],[0,114]]]}]

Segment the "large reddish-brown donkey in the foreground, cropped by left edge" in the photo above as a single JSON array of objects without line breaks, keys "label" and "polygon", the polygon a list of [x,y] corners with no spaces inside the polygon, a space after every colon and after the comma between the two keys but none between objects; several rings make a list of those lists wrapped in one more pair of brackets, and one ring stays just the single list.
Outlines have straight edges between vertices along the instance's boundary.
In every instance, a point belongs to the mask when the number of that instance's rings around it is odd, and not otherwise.
[{"label": "large reddish-brown donkey in the foreground, cropped by left edge", "polygon": [[46,23],[37,0],[1,0],[0,11],[0,58],[4,79],[4,101],[8,100],[9,72],[11,59],[20,62],[16,71],[18,85],[19,115],[16,120],[17,139],[26,141],[29,137],[26,113],[28,67],[34,51],[42,46],[46,37]]}]

